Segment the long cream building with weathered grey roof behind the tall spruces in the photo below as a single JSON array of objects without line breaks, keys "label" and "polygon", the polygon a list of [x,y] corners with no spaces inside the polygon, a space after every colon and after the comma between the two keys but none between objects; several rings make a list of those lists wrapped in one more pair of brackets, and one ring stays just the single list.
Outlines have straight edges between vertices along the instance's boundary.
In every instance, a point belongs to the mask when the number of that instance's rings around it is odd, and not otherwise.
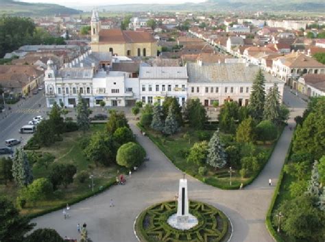
[{"label": "long cream building with weathered grey roof behind the tall spruces", "polygon": [[[252,82],[258,72],[258,66],[248,64],[187,64],[189,83],[187,98],[199,98],[204,106],[212,106],[214,101],[223,105],[227,101],[236,101],[240,106],[248,105]],[[284,81],[268,73],[265,75],[265,90],[277,83],[282,100]]]}]

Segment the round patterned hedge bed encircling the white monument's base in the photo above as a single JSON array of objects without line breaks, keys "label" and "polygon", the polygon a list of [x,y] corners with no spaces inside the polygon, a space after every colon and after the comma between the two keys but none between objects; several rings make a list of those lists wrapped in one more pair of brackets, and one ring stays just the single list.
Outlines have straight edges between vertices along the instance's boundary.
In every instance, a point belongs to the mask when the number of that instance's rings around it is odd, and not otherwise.
[{"label": "round patterned hedge bed encircling the white monument's base", "polygon": [[226,241],[230,237],[230,221],[224,213],[203,202],[189,201],[189,212],[198,224],[189,230],[171,227],[167,219],[177,213],[175,201],[160,202],[145,209],[134,224],[141,241]]}]

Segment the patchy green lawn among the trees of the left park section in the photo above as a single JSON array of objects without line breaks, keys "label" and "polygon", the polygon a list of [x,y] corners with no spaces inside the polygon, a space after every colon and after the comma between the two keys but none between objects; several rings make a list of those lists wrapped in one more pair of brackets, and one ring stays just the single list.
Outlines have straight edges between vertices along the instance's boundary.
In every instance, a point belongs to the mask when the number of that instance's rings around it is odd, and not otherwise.
[{"label": "patchy green lawn among the trees of the left park section", "polygon": [[[72,163],[77,167],[77,174],[82,170],[88,171],[89,174],[94,175],[94,192],[99,192],[100,188],[104,189],[111,183],[115,182],[115,176],[117,170],[121,170],[117,165],[110,167],[95,167],[93,163],[87,161],[83,154],[82,148],[80,148],[78,142],[84,135],[91,135],[96,131],[104,129],[103,124],[96,124],[91,126],[91,131],[84,134],[81,131],[75,131],[71,133],[64,133],[62,135],[62,142],[56,142],[52,146],[40,148],[36,152],[49,152],[53,154],[56,159],[53,162],[56,163]],[[29,151],[30,152],[30,151]],[[34,179],[46,177],[49,174],[44,166],[35,163],[33,165]],[[44,213],[45,211],[51,211],[60,206],[64,206],[69,203],[77,202],[88,196],[91,196],[93,192],[89,188],[91,179],[86,179],[85,183],[80,183],[77,179],[74,179],[67,189],[60,186],[57,191],[53,193],[53,196],[48,200],[37,202],[36,206],[27,204],[25,209],[22,209],[21,213],[26,215],[36,215],[36,213]],[[16,200],[18,188],[14,184],[8,186],[0,185],[0,193],[6,194],[13,202]]]}]

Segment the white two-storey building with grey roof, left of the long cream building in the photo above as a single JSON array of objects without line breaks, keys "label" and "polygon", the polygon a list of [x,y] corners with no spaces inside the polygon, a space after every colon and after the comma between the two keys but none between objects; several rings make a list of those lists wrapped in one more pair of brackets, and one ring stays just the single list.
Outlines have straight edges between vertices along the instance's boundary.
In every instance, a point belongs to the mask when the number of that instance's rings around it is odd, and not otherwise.
[{"label": "white two-storey building with grey roof, left of the long cream building", "polygon": [[140,96],[143,103],[162,104],[166,96],[175,96],[180,105],[186,102],[186,67],[141,66]]}]

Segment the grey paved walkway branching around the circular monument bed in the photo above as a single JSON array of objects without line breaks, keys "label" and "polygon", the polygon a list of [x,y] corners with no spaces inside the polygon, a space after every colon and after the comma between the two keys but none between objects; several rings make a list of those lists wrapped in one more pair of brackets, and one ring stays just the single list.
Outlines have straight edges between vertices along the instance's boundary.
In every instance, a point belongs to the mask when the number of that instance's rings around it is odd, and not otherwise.
[{"label": "grey paved walkway branching around the circular monument bed", "polygon": [[[294,107],[289,120],[289,125],[294,126],[293,118],[302,113],[305,104],[290,92],[285,92],[284,99]],[[182,173],[147,137],[139,133],[134,123],[131,123],[131,127],[150,157],[146,167],[134,172],[125,185],[114,186],[104,193],[71,206],[69,219],[64,220],[62,211],[34,219],[38,227],[54,228],[62,237],[79,239],[77,223],[86,222],[89,236],[95,242],[136,241],[133,232],[136,215],[156,202],[173,199],[178,191],[178,179],[182,178]],[[285,129],[265,169],[252,185],[243,190],[216,189],[186,176],[190,199],[208,202],[230,217],[234,228],[232,241],[273,241],[265,228],[265,216],[292,132],[288,128]],[[269,187],[269,178],[272,178],[274,183],[272,187]],[[113,199],[114,207],[109,206],[110,199]]]}]

